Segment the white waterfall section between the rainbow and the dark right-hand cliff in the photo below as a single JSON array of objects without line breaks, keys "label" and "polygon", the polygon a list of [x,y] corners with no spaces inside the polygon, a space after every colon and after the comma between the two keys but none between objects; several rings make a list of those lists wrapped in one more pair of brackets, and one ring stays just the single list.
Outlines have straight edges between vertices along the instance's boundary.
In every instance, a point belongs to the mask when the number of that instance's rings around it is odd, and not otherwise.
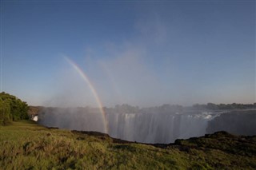
[{"label": "white waterfall section between the rainbow and the dark right-hand cliff", "polygon": [[211,118],[203,114],[107,114],[110,136],[143,143],[170,143],[178,138],[202,136]]}]

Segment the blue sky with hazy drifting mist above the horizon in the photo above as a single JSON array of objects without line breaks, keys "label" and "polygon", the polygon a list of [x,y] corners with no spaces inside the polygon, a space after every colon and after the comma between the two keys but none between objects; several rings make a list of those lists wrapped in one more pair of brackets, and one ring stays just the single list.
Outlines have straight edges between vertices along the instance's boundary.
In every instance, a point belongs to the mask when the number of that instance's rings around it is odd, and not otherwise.
[{"label": "blue sky with hazy drifting mist above the horizon", "polygon": [[29,105],[254,103],[255,1],[1,1],[2,91]]}]

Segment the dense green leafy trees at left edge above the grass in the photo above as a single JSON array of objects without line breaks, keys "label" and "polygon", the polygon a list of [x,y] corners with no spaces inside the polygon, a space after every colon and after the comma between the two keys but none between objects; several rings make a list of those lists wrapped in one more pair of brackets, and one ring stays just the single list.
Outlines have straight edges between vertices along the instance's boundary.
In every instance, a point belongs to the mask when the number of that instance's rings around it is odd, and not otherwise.
[{"label": "dense green leafy trees at left edge above the grass", "polygon": [[7,125],[11,121],[29,119],[26,102],[8,93],[0,93],[0,125]]}]

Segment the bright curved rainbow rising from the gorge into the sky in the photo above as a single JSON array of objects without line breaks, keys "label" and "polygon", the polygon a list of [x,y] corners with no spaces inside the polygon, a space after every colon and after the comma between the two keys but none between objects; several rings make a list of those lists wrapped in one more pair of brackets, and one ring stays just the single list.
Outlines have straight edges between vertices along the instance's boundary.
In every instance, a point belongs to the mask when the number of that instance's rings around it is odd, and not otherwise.
[{"label": "bright curved rainbow rising from the gorge into the sky", "polygon": [[86,73],[84,73],[82,71],[82,69],[74,61],[72,61],[69,57],[65,57],[65,59],[68,63],[70,63],[70,65],[72,65],[72,67],[78,72],[78,74],[82,77],[82,79],[84,81],[86,81],[86,84],[89,86],[90,91],[93,93],[95,101],[98,104],[98,108],[99,108],[100,112],[102,113],[102,117],[103,117],[103,120],[104,120],[104,128],[105,128],[104,132],[108,133],[106,113],[103,109],[102,101],[98,97],[98,93],[97,93],[96,89],[94,88],[94,85],[91,83],[91,81],[90,81],[89,77],[86,75]]}]

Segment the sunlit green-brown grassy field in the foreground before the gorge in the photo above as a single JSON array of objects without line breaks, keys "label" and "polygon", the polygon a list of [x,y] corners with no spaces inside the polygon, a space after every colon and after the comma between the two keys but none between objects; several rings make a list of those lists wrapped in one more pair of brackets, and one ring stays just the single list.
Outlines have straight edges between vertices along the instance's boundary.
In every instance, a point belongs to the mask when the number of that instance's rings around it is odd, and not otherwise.
[{"label": "sunlit green-brown grassy field in the foreground before the gorge", "polygon": [[256,136],[218,132],[174,144],[137,144],[100,133],[0,127],[0,169],[255,169]]}]

